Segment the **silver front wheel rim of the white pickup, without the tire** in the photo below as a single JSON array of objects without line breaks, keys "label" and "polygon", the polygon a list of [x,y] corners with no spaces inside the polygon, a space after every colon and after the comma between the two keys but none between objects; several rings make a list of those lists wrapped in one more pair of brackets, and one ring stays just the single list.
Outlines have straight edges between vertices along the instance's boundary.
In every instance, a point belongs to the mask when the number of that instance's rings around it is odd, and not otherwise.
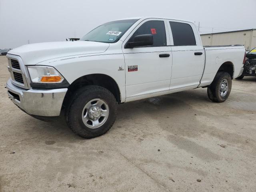
[{"label": "silver front wheel rim of the white pickup, without the tire", "polygon": [[92,99],[87,102],[82,110],[84,124],[92,129],[102,126],[108,119],[109,108],[102,99]]}]

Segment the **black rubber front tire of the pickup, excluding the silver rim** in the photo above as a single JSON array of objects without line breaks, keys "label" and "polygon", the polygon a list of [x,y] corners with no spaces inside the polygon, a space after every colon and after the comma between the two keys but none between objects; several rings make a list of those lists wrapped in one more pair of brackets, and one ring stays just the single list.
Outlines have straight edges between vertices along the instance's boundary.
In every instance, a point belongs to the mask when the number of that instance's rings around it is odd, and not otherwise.
[{"label": "black rubber front tire of the pickup, excluding the silver rim", "polygon": [[[106,122],[98,128],[90,128],[82,120],[84,106],[95,98],[104,100],[109,108]],[[117,114],[117,102],[114,95],[100,86],[85,86],[74,93],[69,108],[66,110],[66,122],[69,128],[83,138],[94,138],[105,134],[114,124]]]}]

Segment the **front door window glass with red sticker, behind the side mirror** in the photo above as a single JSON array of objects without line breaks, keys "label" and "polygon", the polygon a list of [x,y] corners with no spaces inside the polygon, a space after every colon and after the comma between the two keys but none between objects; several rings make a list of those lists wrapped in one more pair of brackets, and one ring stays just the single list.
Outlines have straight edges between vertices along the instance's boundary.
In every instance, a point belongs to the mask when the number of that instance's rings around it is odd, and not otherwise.
[{"label": "front door window glass with red sticker, behind the side mirror", "polygon": [[166,46],[164,21],[152,20],[145,22],[136,30],[136,32],[134,32],[129,42],[133,42],[135,36],[144,34],[153,35],[154,44],[150,47]]}]

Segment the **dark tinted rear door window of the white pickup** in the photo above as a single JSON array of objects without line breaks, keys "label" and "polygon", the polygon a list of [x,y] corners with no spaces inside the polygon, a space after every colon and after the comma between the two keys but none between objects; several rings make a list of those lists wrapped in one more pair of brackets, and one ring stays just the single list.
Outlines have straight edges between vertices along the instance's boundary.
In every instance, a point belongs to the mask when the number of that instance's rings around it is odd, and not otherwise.
[{"label": "dark tinted rear door window of the white pickup", "polygon": [[170,22],[174,46],[196,45],[192,27],[186,23]]}]

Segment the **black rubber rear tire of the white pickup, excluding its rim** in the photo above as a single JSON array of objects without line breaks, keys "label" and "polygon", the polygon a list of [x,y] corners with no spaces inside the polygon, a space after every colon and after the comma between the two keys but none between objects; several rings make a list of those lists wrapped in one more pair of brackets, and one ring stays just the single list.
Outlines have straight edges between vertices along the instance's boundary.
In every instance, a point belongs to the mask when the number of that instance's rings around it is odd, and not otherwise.
[{"label": "black rubber rear tire of the white pickup, excluding its rim", "polygon": [[[228,81],[228,90],[224,96],[220,95],[220,88],[223,80]],[[213,82],[207,88],[207,94],[210,100],[214,102],[224,102],[228,98],[232,88],[232,79],[227,72],[217,72]]]}]

